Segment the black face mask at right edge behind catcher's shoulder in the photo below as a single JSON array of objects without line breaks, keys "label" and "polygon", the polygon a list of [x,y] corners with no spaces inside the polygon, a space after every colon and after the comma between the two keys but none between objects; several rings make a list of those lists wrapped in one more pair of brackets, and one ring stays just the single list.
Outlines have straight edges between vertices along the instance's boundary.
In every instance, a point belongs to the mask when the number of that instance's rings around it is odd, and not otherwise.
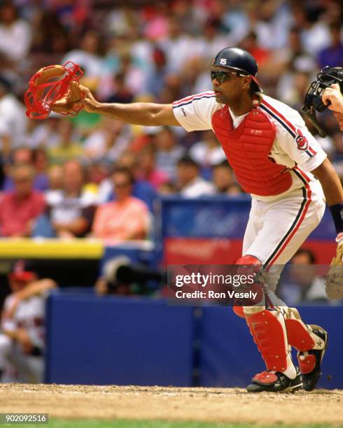
[{"label": "black face mask at right edge behind catcher's shoulder", "polygon": [[334,83],[338,83],[341,92],[343,92],[343,69],[341,67],[330,67],[325,66],[320,73],[317,74],[316,80],[314,80],[309,86],[309,90],[305,95],[304,105],[301,108],[302,113],[307,115],[309,120],[318,130],[321,137],[325,137],[325,131],[318,124],[316,119],[316,111],[321,113],[328,106],[325,106],[321,97],[325,88],[330,87]]}]

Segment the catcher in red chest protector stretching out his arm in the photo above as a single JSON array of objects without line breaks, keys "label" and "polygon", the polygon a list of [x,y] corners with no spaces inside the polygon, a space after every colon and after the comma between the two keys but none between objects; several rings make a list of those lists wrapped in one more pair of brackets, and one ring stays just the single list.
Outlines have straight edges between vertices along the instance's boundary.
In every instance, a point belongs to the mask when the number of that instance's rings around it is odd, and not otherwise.
[{"label": "catcher in red chest protector stretching out his arm", "polygon": [[[252,197],[237,264],[252,266],[255,286],[266,290],[259,294],[260,301],[234,308],[246,321],[266,365],[247,390],[289,392],[304,387],[311,391],[321,376],[328,333],[306,324],[295,308],[276,299],[274,290],[284,264],[321,221],[325,199],[341,236],[343,189],[300,114],[262,94],[257,73],[258,64],[248,52],[224,48],[211,67],[213,90],[172,104],[102,104],[81,87],[82,100],[73,104],[66,94],[52,109],[82,107],[132,124],[214,131],[239,184]],[[317,89],[313,91],[308,106],[316,100]],[[260,272],[263,276],[258,278]],[[291,347],[297,350],[300,369],[293,363]]]}]

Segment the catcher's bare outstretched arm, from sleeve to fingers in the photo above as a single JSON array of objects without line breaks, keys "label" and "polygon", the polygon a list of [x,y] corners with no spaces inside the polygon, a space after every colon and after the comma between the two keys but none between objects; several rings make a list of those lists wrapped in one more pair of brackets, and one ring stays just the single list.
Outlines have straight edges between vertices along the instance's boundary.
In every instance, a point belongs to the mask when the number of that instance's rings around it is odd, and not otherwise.
[{"label": "catcher's bare outstretched arm, from sleeve to fingers", "polygon": [[[85,93],[85,97],[80,101],[78,100],[73,106],[76,108],[82,106],[89,113],[98,113],[122,122],[146,126],[181,126],[174,116],[172,104],[105,104],[94,99],[92,92],[87,87],[80,86],[80,89]],[[64,105],[70,106],[72,101],[68,97],[61,99],[52,106],[52,110],[57,110]]]}]

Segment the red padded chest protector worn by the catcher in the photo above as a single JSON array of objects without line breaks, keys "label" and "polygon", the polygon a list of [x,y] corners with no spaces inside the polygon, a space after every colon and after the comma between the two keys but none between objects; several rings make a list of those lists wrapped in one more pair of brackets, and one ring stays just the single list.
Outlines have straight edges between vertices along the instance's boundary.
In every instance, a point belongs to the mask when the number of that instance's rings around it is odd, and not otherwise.
[{"label": "red padded chest protector worn by the catcher", "polygon": [[260,108],[254,107],[233,129],[229,108],[225,106],[212,116],[212,127],[245,192],[267,197],[289,189],[290,173],[284,172],[285,166],[269,159],[275,125]]}]

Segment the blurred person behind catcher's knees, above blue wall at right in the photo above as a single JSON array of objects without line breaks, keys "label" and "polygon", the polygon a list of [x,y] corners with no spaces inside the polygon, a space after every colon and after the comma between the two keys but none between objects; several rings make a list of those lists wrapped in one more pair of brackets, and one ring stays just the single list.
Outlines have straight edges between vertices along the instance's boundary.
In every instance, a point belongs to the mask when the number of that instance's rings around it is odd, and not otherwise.
[{"label": "blurred person behind catcher's knees, above blue wall at right", "polygon": [[290,259],[289,283],[281,283],[279,294],[288,306],[325,303],[325,278],[318,277],[316,257],[311,250],[300,248]]}]

